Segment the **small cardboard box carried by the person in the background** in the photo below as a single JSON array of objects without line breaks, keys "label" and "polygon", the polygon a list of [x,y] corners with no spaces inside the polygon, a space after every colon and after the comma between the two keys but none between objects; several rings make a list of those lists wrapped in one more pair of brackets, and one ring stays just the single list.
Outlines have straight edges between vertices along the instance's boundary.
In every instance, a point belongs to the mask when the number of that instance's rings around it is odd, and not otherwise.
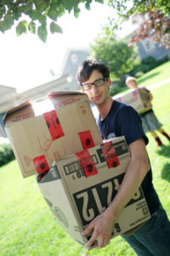
[{"label": "small cardboard box carried by the person in the background", "polygon": [[132,106],[139,113],[144,113],[146,111],[145,104],[149,101],[149,96],[145,89],[138,88],[135,90],[130,90],[126,94],[114,96],[114,99]]}]

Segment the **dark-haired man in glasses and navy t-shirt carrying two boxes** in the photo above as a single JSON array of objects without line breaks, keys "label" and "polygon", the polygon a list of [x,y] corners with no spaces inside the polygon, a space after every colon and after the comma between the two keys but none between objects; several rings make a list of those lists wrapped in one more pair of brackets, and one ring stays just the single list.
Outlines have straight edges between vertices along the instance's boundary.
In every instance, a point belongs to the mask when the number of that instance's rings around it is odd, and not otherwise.
[{"label": "dark-haired man in glasses and navy t-shirt carrying two boxes", "polygon": [[170,253],[170,223],[152,184],[150,162],[146,153],[145,136],[139,114],[130,106],[113,101],[109,95],[110,70],[98,61],[84,61],[77,73],[82,91],[99,110],[97,124],[103,139],[125,136],[131,160],[122,184],[111,205],[88,225],[82,235],[91,238],[87,247],[97,241],[97,247],[105,247],[111,240],[112,226],[117,216],[142,185],[151,218],[133,232],[122,237],[138,255],[168,255]]}]

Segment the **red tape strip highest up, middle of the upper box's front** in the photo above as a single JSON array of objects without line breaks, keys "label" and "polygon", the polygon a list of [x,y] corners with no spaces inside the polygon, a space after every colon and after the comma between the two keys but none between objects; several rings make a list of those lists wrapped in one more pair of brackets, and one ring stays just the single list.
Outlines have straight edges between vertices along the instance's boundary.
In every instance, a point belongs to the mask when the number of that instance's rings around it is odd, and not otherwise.
[{"label": "red tape strip highest up, middle of the upper box's front", "polygon": [[46,124],[48,125],[48,130],[51,134],[53,141],[65,135],[59,123],[59,118],[55,110],[43,113],[43,117],[46,120]]}]

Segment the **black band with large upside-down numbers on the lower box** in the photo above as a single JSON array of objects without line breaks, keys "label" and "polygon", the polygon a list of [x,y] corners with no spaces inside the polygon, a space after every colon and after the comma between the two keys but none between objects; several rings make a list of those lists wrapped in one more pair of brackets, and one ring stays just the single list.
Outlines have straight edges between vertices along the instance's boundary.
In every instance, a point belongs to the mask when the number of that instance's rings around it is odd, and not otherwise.
[{"label": "black band with large upside-down numbers on the lower box", "polygon": [[[99,215],[100,212],[105,211],[106,207],[111,204],[123,177],[124,173],[73,194],[83,225],[89,224],[92,219]],[[127,206],[142,198],[144,198],[144,195],[142,190],[139,189],[133,199],[127,203]]]}]

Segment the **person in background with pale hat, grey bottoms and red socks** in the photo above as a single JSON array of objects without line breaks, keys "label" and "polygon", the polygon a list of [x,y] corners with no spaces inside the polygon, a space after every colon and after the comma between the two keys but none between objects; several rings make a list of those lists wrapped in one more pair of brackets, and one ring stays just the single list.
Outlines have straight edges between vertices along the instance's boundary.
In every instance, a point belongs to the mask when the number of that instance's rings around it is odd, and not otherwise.
[{"label": "person in background with pale hat, grey bottoms and red socks", "polygon": [[[127,87],[131,89],[137,89],[138,85],[136,83],[136,79],[133,77],[127,77],[126,79]],[[161,139],[158,137],[156,131],[160,132],[163,136],[167,137],[168,141],[170,141],[170,137],[168,136],[167,132],[164,131],[161,127],[162,124],[159,122],[159,120],[156,118],[156,114],[154,113],[151,101],[153,99],[153,96],[150,93],[150,90],[146,89],[145,87],[139,87],[143,89],[146,93],[146,96],[148,96],[148,102],[146,104],[146,111],[144,113],[139,113],[141,119],[142,119],[142,125],[144,128],[144,132],[150,132],[151,135],[155,138],[157,146],[162,146]]]}]

